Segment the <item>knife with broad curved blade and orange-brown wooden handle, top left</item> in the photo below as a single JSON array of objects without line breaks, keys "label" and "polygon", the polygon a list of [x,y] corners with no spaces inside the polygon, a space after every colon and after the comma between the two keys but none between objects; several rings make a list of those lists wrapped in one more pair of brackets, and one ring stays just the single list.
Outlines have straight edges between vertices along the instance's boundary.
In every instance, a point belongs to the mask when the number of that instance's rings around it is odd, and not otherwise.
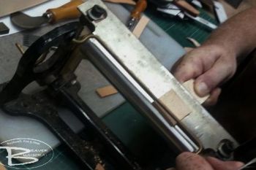
[{"label": "knife with broad curved blade and orange-brown wooden handle, top left", "polygon": [[23,12],[15,12],[11,14],[12,23],[20,28],[37,28],[45,23],[57,23],[61,20],[78,18],[80,12],[78,5],[83,4],[82,0],[73,0],[61,7],[48,9],[42,16],[31,17]]}]

